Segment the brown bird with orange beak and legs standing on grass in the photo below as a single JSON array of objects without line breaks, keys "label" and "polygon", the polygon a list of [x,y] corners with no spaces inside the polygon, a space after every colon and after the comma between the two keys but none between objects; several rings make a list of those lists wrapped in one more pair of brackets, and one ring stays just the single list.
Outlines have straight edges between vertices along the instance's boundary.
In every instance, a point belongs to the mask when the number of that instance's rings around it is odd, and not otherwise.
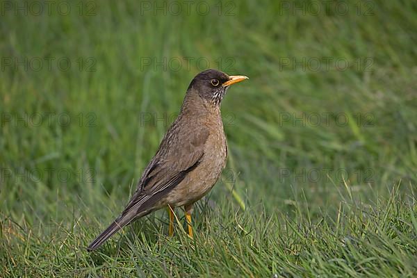
[{"label": "brown bird with orange beak and legs standing on grass", "polygon": [[168,207],[172,236],[172,208],[184,206],[188,235],[193,237],[191,213],[220,177],[227,161],[220,103],[230,85],[248,79],[217,70],[200,72],[191,81],[181,113],[163,137],[158,152],[142,174],[122,214],[92,243],[96,250],[124,226],[152,211]]}]

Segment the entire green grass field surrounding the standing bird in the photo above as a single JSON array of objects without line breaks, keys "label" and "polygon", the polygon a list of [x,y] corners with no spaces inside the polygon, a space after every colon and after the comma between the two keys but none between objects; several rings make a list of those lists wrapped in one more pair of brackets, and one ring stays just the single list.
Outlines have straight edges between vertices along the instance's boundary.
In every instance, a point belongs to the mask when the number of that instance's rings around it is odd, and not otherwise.
[{"label": "entire green grass field surrounding the standing bird", "polygon": [[[0,277],[416,277],[415,1],[3,1]],[[208,67],[227,169],[94,253]]]}]

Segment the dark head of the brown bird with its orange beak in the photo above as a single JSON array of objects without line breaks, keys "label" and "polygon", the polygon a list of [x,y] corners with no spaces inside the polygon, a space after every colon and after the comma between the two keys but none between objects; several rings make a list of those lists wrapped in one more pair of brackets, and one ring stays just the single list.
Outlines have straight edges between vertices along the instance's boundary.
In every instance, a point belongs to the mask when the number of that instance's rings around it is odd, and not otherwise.
[{"label": "dark head of the brown bird with its orange beak", "polygon": [[227,75],[218,70],[205,70],[197,74],[188,86],[188,90],[195,90],[200,97],[218,106],[230,85],[248,79],[243,75]]}]

